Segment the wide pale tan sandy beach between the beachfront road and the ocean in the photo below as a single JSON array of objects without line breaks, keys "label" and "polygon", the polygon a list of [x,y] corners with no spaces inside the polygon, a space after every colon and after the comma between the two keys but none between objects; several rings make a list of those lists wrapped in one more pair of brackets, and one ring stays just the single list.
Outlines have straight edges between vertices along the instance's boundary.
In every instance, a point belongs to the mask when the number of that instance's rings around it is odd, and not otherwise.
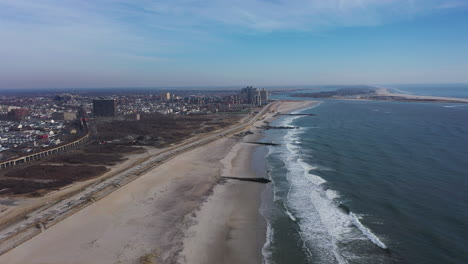
[{"label": "wide pale tan sandy beach between the beachfront road and the ocean", "polygon": [[312,101],[275,103],[244,138],[191,149],[0,256],[0,263],[261,263],[264,184],[256,177],[255,127]]}]

